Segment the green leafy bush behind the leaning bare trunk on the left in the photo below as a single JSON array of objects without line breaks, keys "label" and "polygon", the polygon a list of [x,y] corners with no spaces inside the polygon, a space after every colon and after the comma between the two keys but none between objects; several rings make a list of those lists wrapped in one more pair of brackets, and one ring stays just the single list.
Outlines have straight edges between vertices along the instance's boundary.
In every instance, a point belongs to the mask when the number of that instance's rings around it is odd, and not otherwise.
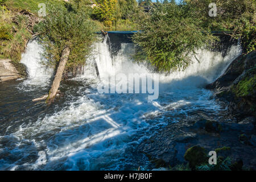
[{"label": "green leafy bush behind the leaning bare trunk on the left", "polygon": [[49,60],[48,65],[56,67],[63,49],[68,46],[71,52],[65,72],[75,73],[78,67],[85,64],[86,56],[92,51],[96,26],[89,18],[86,7],[47,5],[47,9],[46,18],[35,28],[40,32],[44,56]]}]

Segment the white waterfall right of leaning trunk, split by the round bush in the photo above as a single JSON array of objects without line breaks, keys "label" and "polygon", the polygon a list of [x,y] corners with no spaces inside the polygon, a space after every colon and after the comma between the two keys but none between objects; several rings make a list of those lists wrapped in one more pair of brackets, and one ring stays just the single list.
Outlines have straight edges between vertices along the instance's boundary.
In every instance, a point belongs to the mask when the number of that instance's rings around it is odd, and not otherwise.
[{"label": "white waterfall right of leaning trunk, split by the round bush", "polygon": [[[150,73],[151,71],[143,64],[137,64],[131,59],[134,45],[122,43],[117,55],[112,55],[111,48],[107,43],[106,36],[102,42],[96,43],[94,56],[89,59],[86,65],[84,76],[96,77],[94,64],[97,63],[101,80],[117,75],[118,73]],[[226,50],[225,50],[226,51]],[[242,52],[239,44],[231,46],[225,56],[222,52],[213,52],[207,49],[199,49],[195,56],[191,56],[192,63],[184,71],[171,72],[168,75],[160,74],[160,82],[169,83],[169,87],[180,88],[183,86],[204,86],[216,80],[224,73],[229,64]],[[166,86],[166,85],[165,85]]]}]

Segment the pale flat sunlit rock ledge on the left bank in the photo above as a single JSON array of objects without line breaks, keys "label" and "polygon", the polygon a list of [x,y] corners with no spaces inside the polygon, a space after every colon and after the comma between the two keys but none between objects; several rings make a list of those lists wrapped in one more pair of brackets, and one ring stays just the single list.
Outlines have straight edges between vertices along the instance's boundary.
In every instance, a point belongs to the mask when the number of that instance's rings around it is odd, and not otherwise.
[{"label": "pale flat sunlit rock ledge on the left bank", "polygon": [[0,82],[26,77],[26,67],[9,59],[0,60]]}]

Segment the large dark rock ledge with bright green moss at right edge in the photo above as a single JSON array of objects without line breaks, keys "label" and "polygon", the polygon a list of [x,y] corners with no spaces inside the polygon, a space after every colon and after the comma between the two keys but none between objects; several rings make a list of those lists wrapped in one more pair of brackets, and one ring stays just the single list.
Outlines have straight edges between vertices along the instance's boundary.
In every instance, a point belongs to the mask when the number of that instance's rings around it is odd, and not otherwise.
[{"label": "large dark rock ledge with bright green moss at right edge", "polygon": [[256,51],[241,55],[229,65],[225,73],[207,89],[215,91],[217,98],[226,101],[230,113],[238,120],[256,117]]}]

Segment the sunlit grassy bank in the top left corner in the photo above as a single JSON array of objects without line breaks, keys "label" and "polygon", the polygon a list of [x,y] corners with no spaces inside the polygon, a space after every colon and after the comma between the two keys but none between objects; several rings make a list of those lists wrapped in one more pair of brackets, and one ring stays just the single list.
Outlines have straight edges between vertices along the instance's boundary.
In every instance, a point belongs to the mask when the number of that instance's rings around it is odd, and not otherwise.
[{"label": "sunlit grassy bank in the top left corner", "polygon": [[[38,15],[40,3],[64,6],[64,1],[57,0],[0,0],[0,58],[19,62],[27,41],[31,38],[33,27],[31,19],[19,14],[27,10]],[[15,20],[14,20],[15,19]]]}]

